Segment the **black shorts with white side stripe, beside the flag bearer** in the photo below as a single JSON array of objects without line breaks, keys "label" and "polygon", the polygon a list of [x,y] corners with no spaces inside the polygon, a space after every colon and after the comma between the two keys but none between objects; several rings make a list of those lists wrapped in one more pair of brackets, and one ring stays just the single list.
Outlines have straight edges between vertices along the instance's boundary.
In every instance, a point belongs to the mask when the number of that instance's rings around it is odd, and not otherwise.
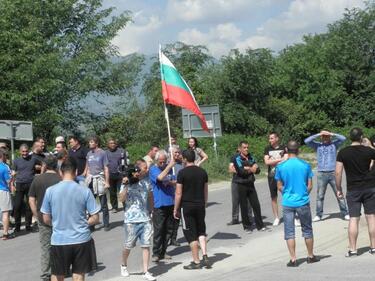
[{"label": "black shorts with white side stripe, beside the flag bearer", "polygon": [[199,236],[206,236],[206,208],[204,206],[183,206],[181,208],[182,230],[189,244]]}]

